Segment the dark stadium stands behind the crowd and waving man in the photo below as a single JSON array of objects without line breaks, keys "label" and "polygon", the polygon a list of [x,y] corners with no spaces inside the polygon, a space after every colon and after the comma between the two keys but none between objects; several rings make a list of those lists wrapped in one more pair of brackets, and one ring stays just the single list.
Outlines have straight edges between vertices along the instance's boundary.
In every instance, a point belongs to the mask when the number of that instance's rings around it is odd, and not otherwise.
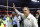
[{"label": "dark stadium stands behind the crowd and waving man", "polygon": [[[35,0],[34,0],[35,1]],[[8,14],[12,14],[13,3],[15,3],[16,8],[22,11],[22,8],[27,6],[30,9],[30,12],[36,17],[37,10],[40,10],[40,0],[34,2],[32,0],[8,0]],[[7,0],[0,0],[0,17],[7,13]]]}]

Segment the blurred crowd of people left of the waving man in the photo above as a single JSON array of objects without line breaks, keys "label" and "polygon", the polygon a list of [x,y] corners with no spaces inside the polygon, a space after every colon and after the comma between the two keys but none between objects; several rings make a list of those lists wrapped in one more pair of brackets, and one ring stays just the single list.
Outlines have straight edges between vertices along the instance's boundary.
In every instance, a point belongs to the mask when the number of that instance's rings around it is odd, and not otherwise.
[{"label": "blurred crowd of people left of the waving man", "polygon": [[15,12],[10,15],[5,14],[4,16],[0,17],[0,27],[2,25],[2,27],[20,27],[20,21],[22,22],[22,17],[15,14]]}]

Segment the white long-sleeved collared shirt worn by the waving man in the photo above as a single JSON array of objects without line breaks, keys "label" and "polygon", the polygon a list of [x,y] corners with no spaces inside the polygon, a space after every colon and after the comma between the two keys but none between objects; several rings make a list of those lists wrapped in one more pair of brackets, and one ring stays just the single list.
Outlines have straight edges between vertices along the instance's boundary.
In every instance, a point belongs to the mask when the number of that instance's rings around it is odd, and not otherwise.
[{"label": "white long-sleeved collared shirt worn by the waving man", "polygon": [[15,9],[16,13],[24,18],[24,27],[38,27],[36,18],[29,14],[26,17],[23,13],[20,13],[17,9]]}]

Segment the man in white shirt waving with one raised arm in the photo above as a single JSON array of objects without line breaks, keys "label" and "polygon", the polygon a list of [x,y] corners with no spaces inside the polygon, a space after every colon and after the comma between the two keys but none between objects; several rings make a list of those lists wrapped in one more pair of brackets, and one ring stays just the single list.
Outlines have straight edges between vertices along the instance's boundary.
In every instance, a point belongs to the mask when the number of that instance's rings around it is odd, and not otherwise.
[{"label": "man in white shirt waving with one raised arm", "polygon": [[36,18],[30,14],[29,8],[24,7],[23,13],[20,13],[13,3],[13,9],[16,11],[16,13],[24,18],[24,27],[38,27]]}]

